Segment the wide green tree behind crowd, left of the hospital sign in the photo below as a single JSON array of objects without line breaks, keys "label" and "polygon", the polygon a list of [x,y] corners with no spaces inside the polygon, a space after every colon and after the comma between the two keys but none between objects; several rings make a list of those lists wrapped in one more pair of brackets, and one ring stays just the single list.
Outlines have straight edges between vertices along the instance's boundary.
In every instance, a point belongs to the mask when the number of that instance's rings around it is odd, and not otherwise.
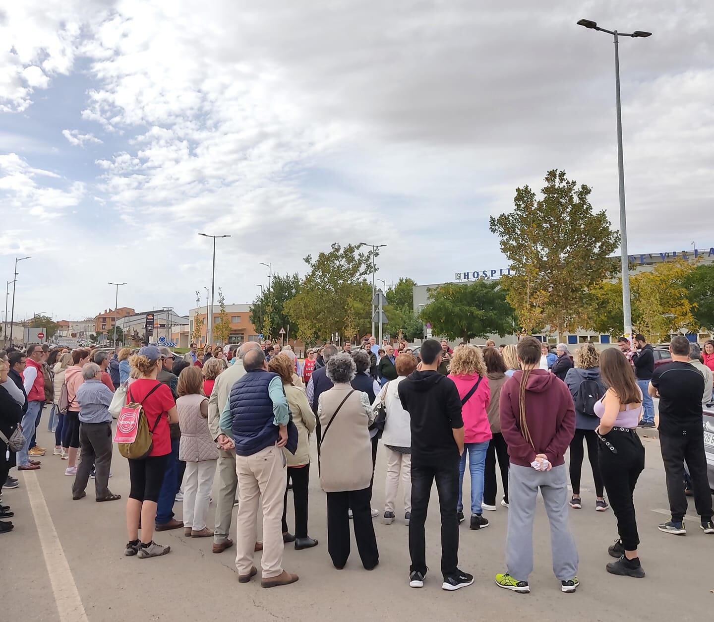
[{"label": "wide green tree behind crowd, left of the hospital sign", "polygon": [[303,341],[328,340],[336,332],[352,338],[371,327],[372,286],[366,277],[372,273],[376,254],[360,249],[335,243],[316,258],[305,258],[310,271],[298,294],[285,304],[285,313],[298,326]]}]

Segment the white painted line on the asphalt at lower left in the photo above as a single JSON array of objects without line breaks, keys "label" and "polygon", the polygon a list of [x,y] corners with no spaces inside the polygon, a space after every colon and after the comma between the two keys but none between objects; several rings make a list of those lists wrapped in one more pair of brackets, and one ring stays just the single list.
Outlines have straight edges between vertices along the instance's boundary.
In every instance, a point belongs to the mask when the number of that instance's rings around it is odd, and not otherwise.
[{"label": "white painted line on the asphalt at lower left", "polygon": [[74,582],[74,576],[69,568],[67,558],[64,556],[64,548],[57,537],[57,531],[34,471],[24,473],[24,482],[30,507],[35,517],[37,534],[42,546],[42,554],[45,558],[45,566],[54,593],[59,620],[60,622],[89,622]]}]

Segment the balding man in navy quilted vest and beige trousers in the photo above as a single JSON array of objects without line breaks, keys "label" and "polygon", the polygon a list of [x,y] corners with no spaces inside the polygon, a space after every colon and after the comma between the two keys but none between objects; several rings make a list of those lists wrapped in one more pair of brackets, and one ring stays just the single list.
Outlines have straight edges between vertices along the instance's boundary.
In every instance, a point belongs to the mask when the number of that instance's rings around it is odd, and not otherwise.
[{"label": "balding man in navy quilted vest and beige trousers", "polygon": [[258,571],[253,566],[258,524],[258,498],[263,511],[263,581],[261,586],[286,586],[298,580],[283,570],[283,495],[287,461],[290,409],[277,373],[268,371],[260,350],[243,357],[245,375],[236,381],[223,408],[218,436],[224,450],[236,450],[238,516],[236,517],[236,568],[238,581],[247,583]]}]

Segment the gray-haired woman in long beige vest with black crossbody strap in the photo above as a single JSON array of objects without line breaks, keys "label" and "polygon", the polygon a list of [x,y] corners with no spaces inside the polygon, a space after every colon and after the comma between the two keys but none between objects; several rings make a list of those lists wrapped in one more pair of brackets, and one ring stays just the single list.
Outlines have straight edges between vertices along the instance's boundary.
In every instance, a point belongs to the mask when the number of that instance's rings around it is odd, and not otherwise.
[{"label": "gray-haired woman in long beige vest with black crossbody strap", "polygon": [[350,384],[356,372],[348,353],[333,356],[326,366],[333,387],[321,393],[317,411],[322,428],[320,483],[327,493],[327,546],[338,570],[344,568],[350,554],[350,509],[362,565],[372,570],[379,563],[370,507],[369,426],[374,414],[367,393],[355,391]]}]

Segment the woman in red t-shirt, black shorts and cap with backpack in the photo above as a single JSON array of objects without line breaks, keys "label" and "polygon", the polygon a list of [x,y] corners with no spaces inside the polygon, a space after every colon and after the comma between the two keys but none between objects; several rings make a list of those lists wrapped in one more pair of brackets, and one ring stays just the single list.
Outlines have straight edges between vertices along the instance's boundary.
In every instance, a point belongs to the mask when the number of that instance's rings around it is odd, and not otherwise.
[{"label": "woman in red t-shirt, black shorts and cap with backpack", "polygon": [[[127,402],[141,402],[153,446],[149,456],[143,460],[129,459],[129,481],[131,492],[126,501],[126,530],[129,543],[124,555],[138,555],[140,558],[166,555],[170,546],[161,546],[152,540],[156,521],[156,504],[159,501],[161,483],[166,473],[166,463],[171,453],[169,423],[178,423],[176,402],[169,386],[156,380],[161,371],[161,353],[156,346],[144,346],[139,353],[129,359],[129,365],[136,368],[141,376],[137,378],[127,394]],[[154,426],[156,426],[154,428]],[[139,541],[139,521],[141,521],[141,541]]]}]

